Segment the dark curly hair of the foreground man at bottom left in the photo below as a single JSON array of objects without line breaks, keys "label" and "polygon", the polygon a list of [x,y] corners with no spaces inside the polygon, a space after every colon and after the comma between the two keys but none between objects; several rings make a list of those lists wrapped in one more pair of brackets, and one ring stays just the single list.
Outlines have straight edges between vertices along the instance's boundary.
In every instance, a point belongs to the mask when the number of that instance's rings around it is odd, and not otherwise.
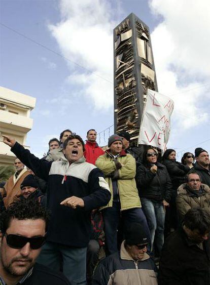
[{"label": "dark curly hair of the foreground man at bottom left", "polygon": [[1,214],[1,231],[3,233],[6,232],[6,230],[10,226],[10,222],[12,219],[17,220],[36,220],[36,219],[42,219],[46,222],[46,229],[47,224],[50,218],[50,212],[49,210],[46,210],[44,207],[42,207],[37,199],[34,198],[28,198],[28,199],[21,199],[11,204]]}]

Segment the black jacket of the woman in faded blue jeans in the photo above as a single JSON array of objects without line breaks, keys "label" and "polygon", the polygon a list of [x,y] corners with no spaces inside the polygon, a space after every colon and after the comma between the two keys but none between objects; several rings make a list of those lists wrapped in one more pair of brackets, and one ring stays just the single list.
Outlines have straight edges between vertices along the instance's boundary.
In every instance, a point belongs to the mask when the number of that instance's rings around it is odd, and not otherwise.
[{"label": "black jacket of the woman in faded blue jeans", "polygon": [[148,198],[170,202],[172,184],[164,165],[157,162],[157,174],[153,174],[150,168],[140,164],[136,170],[136,184],[141,198]]}]

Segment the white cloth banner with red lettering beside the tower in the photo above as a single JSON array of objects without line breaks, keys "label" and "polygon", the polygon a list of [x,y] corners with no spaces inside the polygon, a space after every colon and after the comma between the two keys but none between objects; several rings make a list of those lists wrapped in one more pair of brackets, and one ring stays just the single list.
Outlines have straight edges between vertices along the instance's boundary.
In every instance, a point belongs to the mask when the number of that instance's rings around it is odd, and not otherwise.
[{"label": "white cloth banner with red lettering beside the tower", "polygon": [[138,144],[156,146],[165,151],[173,107],[174,102],[169,97],[148,89]]}]

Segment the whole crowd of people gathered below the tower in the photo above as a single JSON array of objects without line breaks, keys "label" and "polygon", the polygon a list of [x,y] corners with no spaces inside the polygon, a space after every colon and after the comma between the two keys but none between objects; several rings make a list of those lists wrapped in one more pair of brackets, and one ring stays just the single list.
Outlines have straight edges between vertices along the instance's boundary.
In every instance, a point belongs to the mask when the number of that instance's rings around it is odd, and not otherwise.
[{"label": "whole crowd of people gathered below the tower", "polygon": [[13,138],[1,185],[1,284],[210,284],[210,168],[200,147],[161,155],[66,129],[38,158]]}]

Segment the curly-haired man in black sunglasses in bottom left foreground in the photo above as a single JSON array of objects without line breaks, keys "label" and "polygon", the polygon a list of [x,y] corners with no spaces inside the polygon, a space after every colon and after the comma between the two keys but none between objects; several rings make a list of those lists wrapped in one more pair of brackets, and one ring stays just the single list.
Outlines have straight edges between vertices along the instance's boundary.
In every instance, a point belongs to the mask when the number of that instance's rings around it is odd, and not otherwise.
[{"label": "curly-haired man in black sunglasses in bottom left foreground", "polygon": [[36,263],[45,243],[48,212],[36,200],[20,200],[1,217],[0,284],[68,285],[61,274]]}]

